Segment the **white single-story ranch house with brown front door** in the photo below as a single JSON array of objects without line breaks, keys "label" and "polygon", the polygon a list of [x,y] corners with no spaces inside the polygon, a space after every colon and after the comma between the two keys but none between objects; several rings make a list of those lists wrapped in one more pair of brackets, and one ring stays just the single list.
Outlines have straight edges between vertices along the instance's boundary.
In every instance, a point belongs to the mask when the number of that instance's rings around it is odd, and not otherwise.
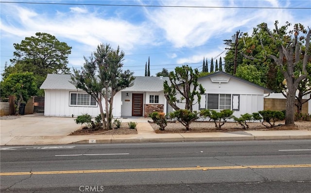
[{"label": "white single-story ranch house with brown front door", "polygon": [[[83,90],[71,84],[69,74],[48,74],[41,85],[45,91],[46,116],[78,116],[84,113],[97,116],[100,113],[96,101]],[[163,82],[168,77],[136,77],[134,85],[126,88],[114,98],[113,116],[144,116],[154,111],[169,113],[173,109],[168,105]],[[225,72],[215,72],[199,78],[198,82],[206,89],[200,103],[193,110],[231,109],[235,116],[263,110],[264,94],[273,91],[257,84],[242,80]],[[104,104],[104,103],[103,103]],[[179,103],[183,108],[184,104]]]}]

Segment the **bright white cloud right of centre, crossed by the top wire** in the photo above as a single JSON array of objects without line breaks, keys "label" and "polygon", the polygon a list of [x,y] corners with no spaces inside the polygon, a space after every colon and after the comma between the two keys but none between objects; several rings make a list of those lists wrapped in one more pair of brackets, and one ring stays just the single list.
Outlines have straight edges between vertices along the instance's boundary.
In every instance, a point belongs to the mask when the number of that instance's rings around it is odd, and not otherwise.
[{"label": "bright white cloud right of centre, crossed by the top wire", "polygon": [[[171,1],[170,1],[171,2]],[[223,6],[221,1],[174,1],[178,6]],[[239,26],[233,22],[235,10],[217,8],[161,8],[148,13],[149,19],[165,32],[176,48],[204,44],[219,32]],[[239,21],[241,23],[242,20]],[[243,22],[242,22],[243,23]]]}]

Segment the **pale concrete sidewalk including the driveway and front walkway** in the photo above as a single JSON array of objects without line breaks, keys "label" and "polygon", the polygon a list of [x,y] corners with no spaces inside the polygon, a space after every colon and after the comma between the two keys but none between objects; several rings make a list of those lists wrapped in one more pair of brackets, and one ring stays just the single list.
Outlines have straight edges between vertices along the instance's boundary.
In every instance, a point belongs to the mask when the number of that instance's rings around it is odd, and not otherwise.
[{"label": "pale concrete sidewalk including the driveway and front walkway", "polygon": [[137,122],[138,134],[68,136],[72,131],[81,127],[74,122],[72,117],[24,115],[18,119],[0,120],[0,145],[311,139],[310,130],[156,134],[148,123],[148,119],[127,118],[121,121]]}]

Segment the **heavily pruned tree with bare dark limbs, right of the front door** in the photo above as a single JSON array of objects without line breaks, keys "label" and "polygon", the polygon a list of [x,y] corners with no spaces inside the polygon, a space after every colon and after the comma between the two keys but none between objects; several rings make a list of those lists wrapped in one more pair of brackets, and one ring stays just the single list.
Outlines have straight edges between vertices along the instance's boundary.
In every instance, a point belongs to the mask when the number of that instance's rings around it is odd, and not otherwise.
[{"label": "heavily pruned tree with bare dark limbs, right of the front door", "polygon": [[[198,102],[201,100],[201,94],[204,94],[205,89],[198,83],[198,75],[198,69],[193,70],[188,65],[176,67],[175,72],[170,72],[171,84],[169,85],[167,80],[163,83],[164,96],[174,110],[180,109],[176,104],[177,101],[182,102],[185,100],[185,109],[192,112],[195,97],[197,97]],[[176,91],[181,95],[180,99],[177,99]]]}]

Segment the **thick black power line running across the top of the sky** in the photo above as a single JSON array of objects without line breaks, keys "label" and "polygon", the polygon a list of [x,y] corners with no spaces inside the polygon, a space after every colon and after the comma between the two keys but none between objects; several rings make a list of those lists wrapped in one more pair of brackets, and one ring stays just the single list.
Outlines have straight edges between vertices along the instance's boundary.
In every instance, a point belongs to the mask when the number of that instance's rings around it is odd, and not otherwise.
[{"label": "thick black power line running across the top of the sky", "polygon": [[174,7],[174,8],[222,8],[222,9],[311,9],[311,7],[239,7],[239,6],[182,6],[182,5],[122,5],[122,4],[89,4],[89,3],[48,3],[0,1],[0,3],[46,4],[46,5],[89,5],[89,6],[118,6],[118,7]]}]

